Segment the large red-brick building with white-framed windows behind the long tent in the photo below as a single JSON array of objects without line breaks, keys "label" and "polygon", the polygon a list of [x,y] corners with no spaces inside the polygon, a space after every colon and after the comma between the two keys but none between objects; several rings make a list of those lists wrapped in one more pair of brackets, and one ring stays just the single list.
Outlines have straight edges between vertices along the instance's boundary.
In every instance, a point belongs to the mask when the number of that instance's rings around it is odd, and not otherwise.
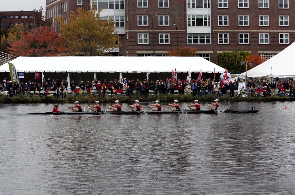
[{"label": "large red-brick building with white-framed windows behind the long tent", "polygon": [[47,18],[64,14],[66,22],[78,6],[101,8],[101,18],[114,20],[121,36],[123,46],[114,55],[165,56],[167,49],[190,45],[218,64],[222,51],[244,50],[267,60],[295,41],[290,0],[73,0],[71,7],[66,2],[47,0]]}]

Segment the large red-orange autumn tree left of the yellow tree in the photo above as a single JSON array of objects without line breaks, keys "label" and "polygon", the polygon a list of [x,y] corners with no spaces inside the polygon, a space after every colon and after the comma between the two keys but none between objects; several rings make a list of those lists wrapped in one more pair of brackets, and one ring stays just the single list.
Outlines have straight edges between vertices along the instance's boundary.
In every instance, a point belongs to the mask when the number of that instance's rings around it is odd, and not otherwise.
[{"label": "large red-orange autumn tree left of the yellow tree", "polygon": [[54,28],[41,26],[35,29],[18,27],[9,32],[8,50],[14,56],[58,56],[67,51],[63,37]]}]

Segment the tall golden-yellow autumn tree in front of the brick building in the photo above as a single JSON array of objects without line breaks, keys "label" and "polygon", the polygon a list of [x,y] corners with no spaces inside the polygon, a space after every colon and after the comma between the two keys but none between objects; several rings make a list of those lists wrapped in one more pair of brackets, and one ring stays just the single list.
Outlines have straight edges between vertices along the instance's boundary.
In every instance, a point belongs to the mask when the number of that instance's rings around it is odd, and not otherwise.
[{"label": "tall golden-yellow autumn tree in front of the brick building", "polygon": [[64,23],[63,18],[56,19],[70,55],[82,53],[84,56],[106,56],[121,47],[114,22],[99,19],[100,11],[95,13],[95,10],[79,8],[71,12],[68,23]]}]

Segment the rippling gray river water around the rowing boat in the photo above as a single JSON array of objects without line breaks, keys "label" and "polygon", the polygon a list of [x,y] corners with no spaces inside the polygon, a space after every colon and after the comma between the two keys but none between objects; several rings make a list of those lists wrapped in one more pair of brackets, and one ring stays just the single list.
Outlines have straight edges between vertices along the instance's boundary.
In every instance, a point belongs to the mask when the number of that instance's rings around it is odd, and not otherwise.
[{"label": "rippling gray river water around the rowing boat", "polygon": [[295,194],[294,103],[220,105],[260,111],[55,116],[23,114],[53,104],[0,105],[0,194]]}]

